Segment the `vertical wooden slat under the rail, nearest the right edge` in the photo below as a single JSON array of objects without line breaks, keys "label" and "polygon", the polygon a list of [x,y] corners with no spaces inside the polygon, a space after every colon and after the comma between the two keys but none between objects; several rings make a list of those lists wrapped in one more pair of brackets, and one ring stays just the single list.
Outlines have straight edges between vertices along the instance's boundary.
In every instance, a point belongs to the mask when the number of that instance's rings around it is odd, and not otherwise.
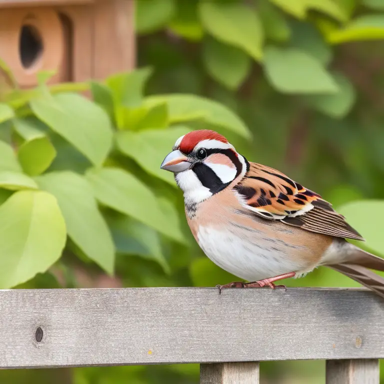
[{"label": "vertical wooden slat under the rail, nearest the right edge", "polygon": [[326,384],[379,384],[378,359],[327,360]]}]

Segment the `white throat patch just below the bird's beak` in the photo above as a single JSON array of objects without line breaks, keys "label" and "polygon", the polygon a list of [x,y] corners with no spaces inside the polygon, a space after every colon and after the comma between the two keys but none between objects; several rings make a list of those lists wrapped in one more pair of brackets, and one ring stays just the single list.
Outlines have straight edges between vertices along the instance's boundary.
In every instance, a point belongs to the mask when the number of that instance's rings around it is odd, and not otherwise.
[{"label": "white throat patch just below the bird's beak", "polygon": [[209,189],[201,184],[200,180],[191,169],[177,173],[175,178],[178,186],[184,192],[184,200],[186,204],[203,201],[212,195]]}]

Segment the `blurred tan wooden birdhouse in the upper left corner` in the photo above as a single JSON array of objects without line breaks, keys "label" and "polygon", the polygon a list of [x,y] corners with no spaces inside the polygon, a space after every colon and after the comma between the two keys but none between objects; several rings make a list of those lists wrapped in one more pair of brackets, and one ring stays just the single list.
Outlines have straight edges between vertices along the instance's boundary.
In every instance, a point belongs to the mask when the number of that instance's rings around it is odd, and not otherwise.
[{"label": "blurred tan wooden birdhouse in the upper left corner", "polygon": [[41,70],[50,83],[130,70],[133,0],[0,0],[0,59],[24,88]]}]

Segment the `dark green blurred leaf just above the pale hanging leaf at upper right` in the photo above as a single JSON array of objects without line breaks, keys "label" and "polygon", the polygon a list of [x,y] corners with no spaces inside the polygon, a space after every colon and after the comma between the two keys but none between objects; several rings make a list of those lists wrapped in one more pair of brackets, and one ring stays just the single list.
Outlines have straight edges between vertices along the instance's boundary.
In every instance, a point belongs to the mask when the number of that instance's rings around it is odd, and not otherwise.
[{"label": "dark green blurred leaf just above the pale hanging leaf at upper right", "polygon": [[319,31],[306,22],[295,21],[290,25],[292,30],[290,45],[310,54],[322,65],[329,64],[332,51]]}]

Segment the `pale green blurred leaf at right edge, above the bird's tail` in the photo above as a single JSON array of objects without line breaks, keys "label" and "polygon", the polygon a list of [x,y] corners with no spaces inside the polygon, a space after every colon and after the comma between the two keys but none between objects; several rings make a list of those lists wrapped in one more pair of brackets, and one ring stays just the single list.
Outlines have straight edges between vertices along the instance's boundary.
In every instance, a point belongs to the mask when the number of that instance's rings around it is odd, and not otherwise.
[{"label": "pale green blurred leaf at right edge, above the bird's tail", "polygon": [[347,222],[365,238],[364,245],[384,255],[381,222],[381,217],[384,215],[383,200],[352,201],[340,206],[338,212],[344,215]]}]

